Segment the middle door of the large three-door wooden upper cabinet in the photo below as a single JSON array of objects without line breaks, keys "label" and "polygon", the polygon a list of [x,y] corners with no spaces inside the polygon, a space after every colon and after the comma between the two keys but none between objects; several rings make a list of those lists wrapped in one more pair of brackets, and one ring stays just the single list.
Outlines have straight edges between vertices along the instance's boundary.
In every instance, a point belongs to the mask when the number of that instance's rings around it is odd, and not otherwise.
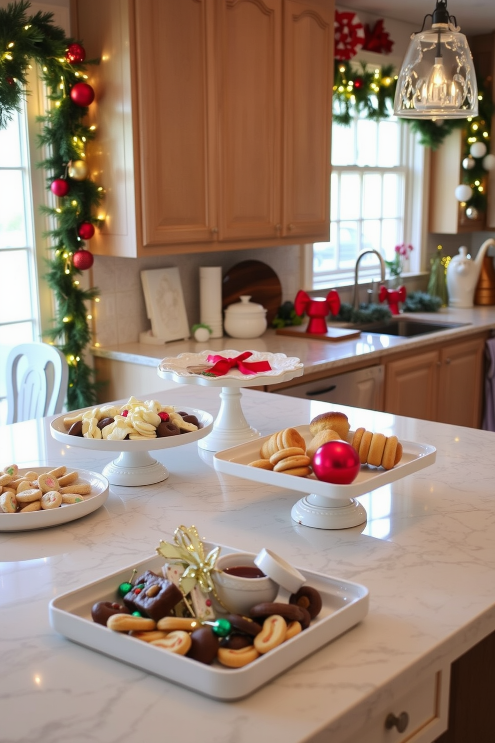
[{"label": "middle door of the large three-door wooden upper cabinet", "polygon": [[281,0],[222,0],[219,237],[276,237],[280,221]]}]

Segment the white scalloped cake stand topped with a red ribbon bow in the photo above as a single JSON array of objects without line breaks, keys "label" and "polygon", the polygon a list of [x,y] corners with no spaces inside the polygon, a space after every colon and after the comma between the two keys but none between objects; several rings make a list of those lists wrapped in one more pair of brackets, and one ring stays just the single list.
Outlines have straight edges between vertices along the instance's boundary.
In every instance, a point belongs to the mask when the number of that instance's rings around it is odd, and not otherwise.
[{"label": "white scalloped cake stand topped with a red ribbon bow", "polygon": [[241,374],[238,369],[231,369],[223,377],[205,377],[195,371],[213,366],[207,361],[209,355],[235,358],[245,351],[201,351],[199,354],[180,354],[168,357],[158,366],[158,376],[171,379],[179,384],[200,384],[208,387],[220,387],[220,410],[215,418],[212,432],[198,441],[198,447],[209,452],[218,452],[237,444],[244,444],[252,438],[259,438],[260,432],[253,428],[243,413],[240,399],[243,387],[255,387],[286,382],[293,377],[300,377],[304,364],[296,357],[285,354],[269,354],[250,351],[248,362],[268,361],[271,371],[259,374]]}]

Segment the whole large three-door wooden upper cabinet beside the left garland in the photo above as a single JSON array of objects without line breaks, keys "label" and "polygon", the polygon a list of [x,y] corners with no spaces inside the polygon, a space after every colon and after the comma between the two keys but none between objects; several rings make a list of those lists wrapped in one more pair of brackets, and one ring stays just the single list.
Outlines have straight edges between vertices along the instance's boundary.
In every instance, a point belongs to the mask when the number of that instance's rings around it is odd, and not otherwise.
[{"label": "whole large three-door wooden upper cabinet beside the left garland", "polygon": [[326,240],[333,0],[75,0],[105,187],[94,253]]}]

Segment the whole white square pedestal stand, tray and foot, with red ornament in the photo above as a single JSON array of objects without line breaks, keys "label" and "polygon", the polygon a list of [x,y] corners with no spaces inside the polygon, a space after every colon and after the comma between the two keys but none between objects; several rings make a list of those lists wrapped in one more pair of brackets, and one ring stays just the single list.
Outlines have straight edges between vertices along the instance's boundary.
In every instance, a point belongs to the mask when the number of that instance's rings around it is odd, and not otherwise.
[{"label": "whole white square pedestal stand, tray and foot, with red ornament", "polygon": [[[312,439],[309,426],[293,427],[303,435],[306,444],[309,444]],[[350,435],[353,435],[353,431]],[[269,438],[270,436],[265,436],[258,441],[249,441],[247,444],[217,452],[213,457],[215,470],[246,480],[275,485],[284,490],[307,493],[306,498],[301,499],[292,509],[292,518],[299,524],[321,529],[350,528],[364,523],[367,519],[366,511],[355,498],[429,467],[436,459],[436,448],[430,444],[401,441],[402,458],[392,470],[364,464],[352,483],[335,485],[317,480],[314,475],[296,477],[262,470],[260,467],[248,467],[249,462],[260,458],[263,442]]]}]

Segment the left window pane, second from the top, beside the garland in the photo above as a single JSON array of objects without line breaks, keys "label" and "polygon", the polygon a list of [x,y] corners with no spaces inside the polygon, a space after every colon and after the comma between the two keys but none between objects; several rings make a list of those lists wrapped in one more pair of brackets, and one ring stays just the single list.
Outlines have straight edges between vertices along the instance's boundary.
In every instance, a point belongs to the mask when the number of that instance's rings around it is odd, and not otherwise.
[{"label": "left window pane, second from the top, beside the garland", "polygon": [[0,170],[0,247],[26,244],[22,181],[21,170]]}]

